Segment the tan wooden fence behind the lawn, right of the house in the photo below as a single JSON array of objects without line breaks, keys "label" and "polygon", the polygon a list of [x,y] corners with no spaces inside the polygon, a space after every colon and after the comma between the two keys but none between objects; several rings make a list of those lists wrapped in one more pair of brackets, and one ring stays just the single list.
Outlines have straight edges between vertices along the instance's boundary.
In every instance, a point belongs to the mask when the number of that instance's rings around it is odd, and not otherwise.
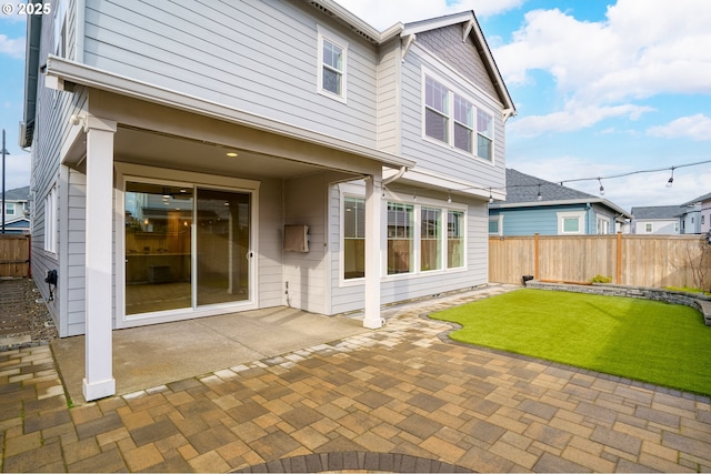
[{"label": "tan wooden fence behind the lawn, right of the house", "polygon": [[700,235],[530,235],[489,238],[489,281],[590,282],[711,289],[711,245]]}]

